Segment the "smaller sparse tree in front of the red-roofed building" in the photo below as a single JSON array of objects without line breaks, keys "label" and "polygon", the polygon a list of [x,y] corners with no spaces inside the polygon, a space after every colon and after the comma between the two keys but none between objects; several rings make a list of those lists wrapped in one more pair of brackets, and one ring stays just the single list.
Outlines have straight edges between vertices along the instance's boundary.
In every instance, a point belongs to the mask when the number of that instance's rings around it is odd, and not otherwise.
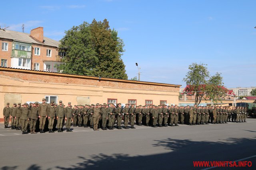
[{"label": "smaller sparse tree in front of the red-roofed building", "polygon": [[199,105],[202,99],[210,98],[213,102],[221,101],[226,93],[223,87],[223,78],[220,73],[210,76],[207,64],[192,63],[183,79],[188,85],[185,92],[195,95],[195,104]]}]

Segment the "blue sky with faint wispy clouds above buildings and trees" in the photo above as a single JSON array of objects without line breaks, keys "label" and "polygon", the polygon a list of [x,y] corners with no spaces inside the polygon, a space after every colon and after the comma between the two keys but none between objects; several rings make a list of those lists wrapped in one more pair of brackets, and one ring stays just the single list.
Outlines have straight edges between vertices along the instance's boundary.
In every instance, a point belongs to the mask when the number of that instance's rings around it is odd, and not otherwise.
[{"label": "blue sky with faint wispy clouds above buildings and trees", "polygon": [[[129,79],[181,84],[188,65],[208,64],[224,85],[256,86],[255,0],[43,0],[5,1],[1,27],[25,32],[44,27],[60,40],[83,21],[109,21],[123,39]],[[5,15],[4,15],[5,14]]]}]

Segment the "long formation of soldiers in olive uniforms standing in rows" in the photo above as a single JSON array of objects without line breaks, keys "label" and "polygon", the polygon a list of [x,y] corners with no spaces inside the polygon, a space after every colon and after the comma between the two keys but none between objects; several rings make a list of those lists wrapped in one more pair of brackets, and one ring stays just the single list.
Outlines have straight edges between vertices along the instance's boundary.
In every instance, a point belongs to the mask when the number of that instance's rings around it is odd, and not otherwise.
[{"label": "long formation of soldiers in olive uniforms standing in rows", "polygon": [[[54,133],[57,126],[58,132],[63,132],[63,125],[66,121],[66,131],[72,132],[70,129],[71,123],[73,126],[88,127],[90,125],[94,130],[98,130],[100,124],[103,130],[113,129],[115,123],[117,129],[122,129],[122,119],[124,120],[124,129],[128,129],[128,123],[130,122],[130,128],[135,129],[134,124],[137,125],[152,125],[153,127],[167,127],[179,126],[180,124],[188,125],[200,125],[208,123],[227,123],[232,122],[246,122],[247,109],[244,107],[194,107],[190,106],[137,106],[132,104],[126,104],[122,107],[121,104],[92,104],[92,105],[79,105],[68,106],[59,102],[59,105],[52,101],[50,104],[42,100],[42,104],[38,102],[31,104],[16,104],[13,107],[9,107],[7,103],[4,107],[4,125],[8,128],[9,119],[11,118],[12,129],[21,129],[23,134],[30,131],[30,133],[36,133],[36,122],[39,118],[40,133],[44,133],[46,122],[48,123],[49,133]],[[47,121],[46,121],[47,120]],[[21,127],[21,128],[20,128]],[[47,128],[46,128],[47,129]]]}]

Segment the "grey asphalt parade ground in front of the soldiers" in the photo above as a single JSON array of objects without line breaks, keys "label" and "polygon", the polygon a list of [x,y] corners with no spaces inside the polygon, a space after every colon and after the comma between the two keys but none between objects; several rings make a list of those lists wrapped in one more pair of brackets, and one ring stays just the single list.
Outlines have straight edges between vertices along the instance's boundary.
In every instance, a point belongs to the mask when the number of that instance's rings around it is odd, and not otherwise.
[{"label": "grey asphalt parade ground in front of the soldiers", "polygon": [[28,135],[1,123],[0,165],[2,170],[185,170],[206,168],[194,168],[193,161],[243,160],[252,167],[227,169],[255,169],[256,119],[246,121],[107,131],[72,127],[73,132]]}]

